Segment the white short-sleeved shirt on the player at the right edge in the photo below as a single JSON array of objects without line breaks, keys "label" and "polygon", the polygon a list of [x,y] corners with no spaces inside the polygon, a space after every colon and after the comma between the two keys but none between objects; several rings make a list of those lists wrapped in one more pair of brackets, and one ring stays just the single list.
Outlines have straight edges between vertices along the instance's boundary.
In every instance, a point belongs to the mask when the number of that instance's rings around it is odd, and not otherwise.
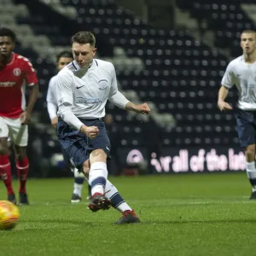
[{"label": "white short-sleeved shirt on the player at the right edge", "polygon": [[236,84],[239,91],[238,108],[256,110],[256,62],[246,63],[243,55],[230,61],[221,84],[228,89]]}]

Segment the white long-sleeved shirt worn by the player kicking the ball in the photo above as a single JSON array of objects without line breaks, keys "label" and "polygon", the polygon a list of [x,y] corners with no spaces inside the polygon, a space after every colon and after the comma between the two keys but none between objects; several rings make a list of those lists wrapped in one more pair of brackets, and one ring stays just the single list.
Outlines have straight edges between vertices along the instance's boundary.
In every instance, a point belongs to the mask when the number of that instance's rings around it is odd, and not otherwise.
[{"label": "white long-sleeved shirt worn by the player kicking the ball", "polygon": [[58,116],[78,130],[83,125],[79,119],[104,117],[108,100],[119,108],[129,102],[119,93],[113,64],[108,61],[94,59],[88,69],[73,61],[57,74],[56,84]]}]

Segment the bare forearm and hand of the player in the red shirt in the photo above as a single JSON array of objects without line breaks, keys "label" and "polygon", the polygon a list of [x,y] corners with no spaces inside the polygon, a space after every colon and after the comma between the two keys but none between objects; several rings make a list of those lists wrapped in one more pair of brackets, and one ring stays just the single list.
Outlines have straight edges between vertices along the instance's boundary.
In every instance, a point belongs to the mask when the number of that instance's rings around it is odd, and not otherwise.
[{"label": "bare forearm and hand of the player in the red shirt", "polygon": [[26,111],[20,114],[20,122],[22,125],[27,125],[31,121],[32,110],[37,100],[38,100],[38,84],[35,84],[30,89],[30,96],[27,103]]}]

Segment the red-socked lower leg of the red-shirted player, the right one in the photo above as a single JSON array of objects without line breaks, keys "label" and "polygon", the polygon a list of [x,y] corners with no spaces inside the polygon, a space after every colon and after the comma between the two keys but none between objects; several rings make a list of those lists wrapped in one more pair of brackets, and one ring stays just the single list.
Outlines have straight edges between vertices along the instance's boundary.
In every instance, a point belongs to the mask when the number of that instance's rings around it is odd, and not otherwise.
[{"label": "red-socked lower leg of the red-shirted player, the right one", "polygon": [[21,160],[16,160],[16,167],[18,172],[18,177],[20,180],[20,188],[19,188],[19,204],[20,205],[29,205],[27,194],[26,194],[26,180],[27,174],[29,171],[29,161],[27,156]]}]

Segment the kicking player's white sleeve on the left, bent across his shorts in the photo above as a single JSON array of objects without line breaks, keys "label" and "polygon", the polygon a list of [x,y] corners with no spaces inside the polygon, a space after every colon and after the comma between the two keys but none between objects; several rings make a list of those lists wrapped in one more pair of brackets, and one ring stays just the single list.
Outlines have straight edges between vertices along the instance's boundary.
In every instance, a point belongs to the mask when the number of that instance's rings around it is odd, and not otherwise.
[{"label": "kicking player's white sleeve on the left, bent across his shorts", "polygon": [[72,111],[73,107],[73,79],[69,74],[58,74],[56,78],[56,84],[58,88],[58,116],[63,119],[67,125],[80,130],[81,126],[84,125]]}]

